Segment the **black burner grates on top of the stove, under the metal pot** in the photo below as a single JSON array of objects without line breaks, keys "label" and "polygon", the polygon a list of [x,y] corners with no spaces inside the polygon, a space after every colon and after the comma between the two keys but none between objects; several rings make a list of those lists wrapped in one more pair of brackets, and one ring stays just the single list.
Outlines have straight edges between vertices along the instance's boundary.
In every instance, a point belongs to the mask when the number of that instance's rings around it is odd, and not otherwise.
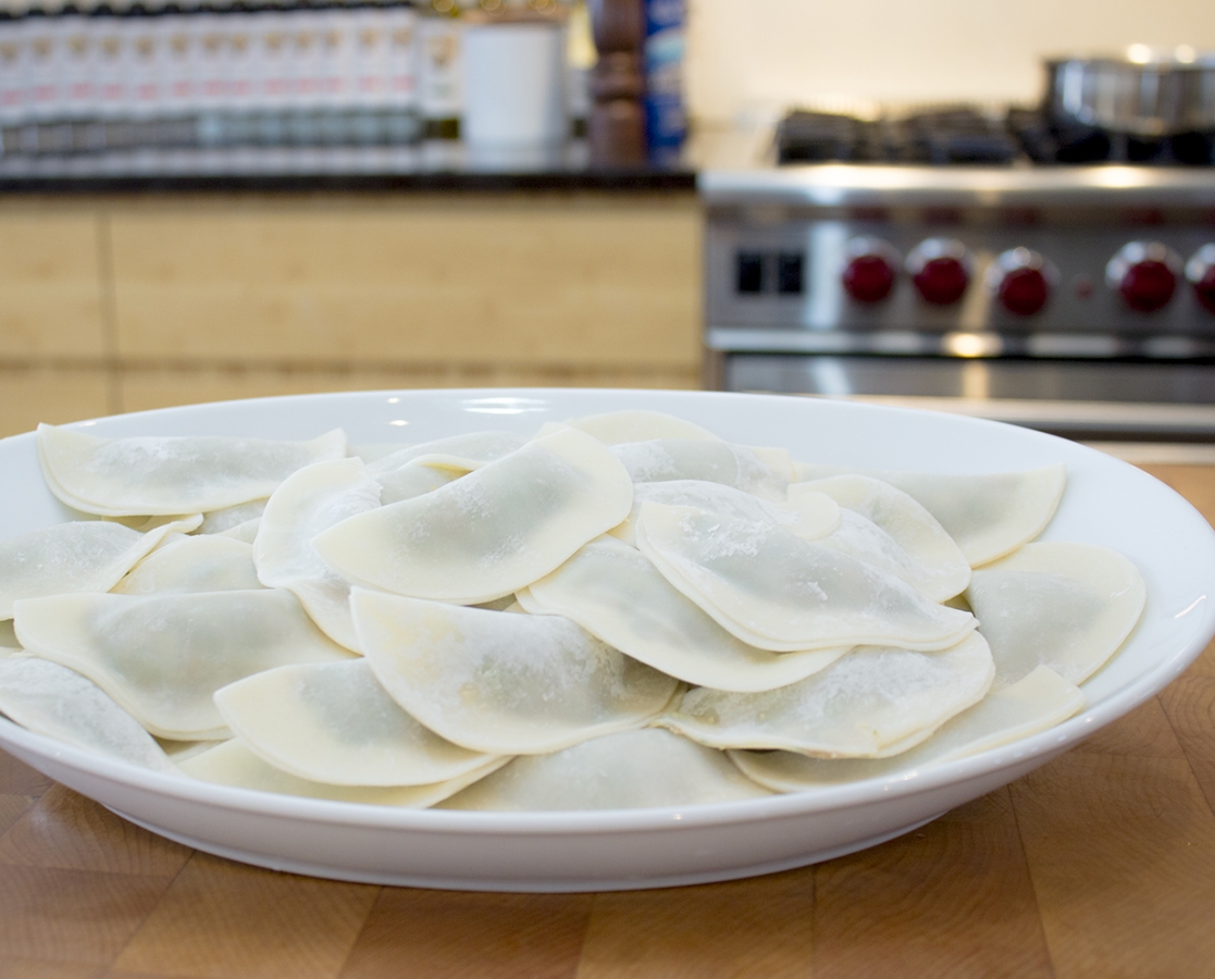
[{"label": "black burner grates on top of the stove, under the metal pot", "polygon": [[875,119],[797,109],[776,126],[776,162],[921,165],[1128,163],[1209,166],[1215,132],[1145,138],[1052,120],[1035,108],[971,106]]}]

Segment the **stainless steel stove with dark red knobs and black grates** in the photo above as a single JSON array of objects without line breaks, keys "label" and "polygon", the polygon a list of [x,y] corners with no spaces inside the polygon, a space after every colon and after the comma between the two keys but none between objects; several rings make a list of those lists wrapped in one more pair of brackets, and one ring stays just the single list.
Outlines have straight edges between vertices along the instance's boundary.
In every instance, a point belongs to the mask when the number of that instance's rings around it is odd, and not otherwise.
[{"label": "stainless steel stove with dark red knobs and black grates", "polygon": [[1209,134],[1066,164],[1092,131],[945,115],[791,117],[786,165],[701,172],[708,383],[1215,406]]}]

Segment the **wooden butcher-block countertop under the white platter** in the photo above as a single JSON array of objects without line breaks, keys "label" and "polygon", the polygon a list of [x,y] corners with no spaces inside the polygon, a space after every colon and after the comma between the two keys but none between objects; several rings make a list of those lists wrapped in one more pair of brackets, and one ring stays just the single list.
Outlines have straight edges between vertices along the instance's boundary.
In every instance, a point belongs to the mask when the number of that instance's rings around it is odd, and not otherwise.
[{"label": "wooden butcher-block countertop under the white platter", "polygon": [[[1215,466],[1149,471],[1215,520]],[[317,881],[185,849],[0,754],[0,977],[1215,975],[1215,645],[1074,751],[814,867],[614,894]]]}]

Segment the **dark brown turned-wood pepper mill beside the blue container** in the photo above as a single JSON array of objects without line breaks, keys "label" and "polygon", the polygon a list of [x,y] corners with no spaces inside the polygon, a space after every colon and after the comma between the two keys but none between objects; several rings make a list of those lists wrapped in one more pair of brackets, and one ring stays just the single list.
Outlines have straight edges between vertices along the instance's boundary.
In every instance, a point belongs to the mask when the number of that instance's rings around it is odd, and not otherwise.
[{"label": "dark brown turned-wood pepper mill beside the blue container", "polygon": [[597,166],[642,166],[645,152],[644,0],[589,0],[599,62],[590,75],[587,137]]}]

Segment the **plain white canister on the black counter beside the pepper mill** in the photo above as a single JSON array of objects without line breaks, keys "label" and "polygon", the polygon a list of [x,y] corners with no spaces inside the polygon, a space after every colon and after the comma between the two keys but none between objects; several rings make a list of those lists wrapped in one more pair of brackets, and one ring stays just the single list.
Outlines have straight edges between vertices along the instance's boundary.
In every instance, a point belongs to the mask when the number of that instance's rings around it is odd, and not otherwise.
[{"label": "plain white canister on the black counter beside the pepper mill", "polygon": [[564,24],[469,24],[463,62],[460,135],[469,146],[543,146],[565,140]]}]

